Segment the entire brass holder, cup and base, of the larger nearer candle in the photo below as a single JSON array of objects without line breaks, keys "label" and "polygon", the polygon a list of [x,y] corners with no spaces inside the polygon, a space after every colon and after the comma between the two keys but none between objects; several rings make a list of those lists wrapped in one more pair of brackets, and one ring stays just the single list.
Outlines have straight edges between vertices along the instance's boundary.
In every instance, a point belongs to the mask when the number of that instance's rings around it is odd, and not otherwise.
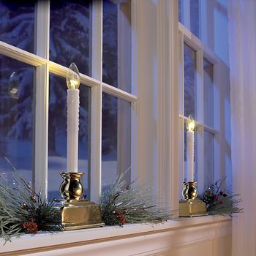
[{"label": "entire brass holder, cup and base, of the larger nearer candle", "polygon": [[60,209],[63,230],[77,230],[89,227],[104,227],[102,214],[96,203],[80,199],[83,185],[80,182],[83,173],[60,173],[63,178],[59,191],[63,200],[55,200]]}]

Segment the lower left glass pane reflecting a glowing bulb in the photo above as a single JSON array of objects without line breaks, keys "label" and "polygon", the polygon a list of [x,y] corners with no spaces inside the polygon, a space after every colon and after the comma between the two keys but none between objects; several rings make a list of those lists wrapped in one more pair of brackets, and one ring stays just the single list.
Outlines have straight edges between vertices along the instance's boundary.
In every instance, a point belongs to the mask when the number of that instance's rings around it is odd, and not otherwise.
[{"label": "lower left glass pane reflecting a glowing bulb", "polygon": [[32,181],[34,67],[0,56],[0,174],[12,182],[12,167]]}]

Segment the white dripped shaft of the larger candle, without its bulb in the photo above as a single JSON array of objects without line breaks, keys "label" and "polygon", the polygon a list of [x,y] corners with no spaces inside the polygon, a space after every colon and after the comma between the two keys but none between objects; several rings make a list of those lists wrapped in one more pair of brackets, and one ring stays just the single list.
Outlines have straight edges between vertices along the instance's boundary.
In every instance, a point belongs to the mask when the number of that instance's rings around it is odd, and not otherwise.
[{"label": "white dripped shaft of the larger candle, without its bulb", "polygon": [[78,172],[79,90],[67,90],[67,172]]}]

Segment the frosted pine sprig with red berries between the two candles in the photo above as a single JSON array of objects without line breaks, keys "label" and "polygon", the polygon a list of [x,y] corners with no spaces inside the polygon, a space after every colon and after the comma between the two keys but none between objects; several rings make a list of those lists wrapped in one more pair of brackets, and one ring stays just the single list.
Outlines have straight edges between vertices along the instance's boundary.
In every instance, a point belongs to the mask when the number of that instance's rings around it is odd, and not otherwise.
[{"label": "frosted pine sprig with red berries between the two candles", "polygon": [[126,186],[122,181],[124,174],[110,186],[99,198],[102,220],[106,225],[124,225],[129,223],[159,223],[173,217],[174,211],[157,206],[151,189]]}]

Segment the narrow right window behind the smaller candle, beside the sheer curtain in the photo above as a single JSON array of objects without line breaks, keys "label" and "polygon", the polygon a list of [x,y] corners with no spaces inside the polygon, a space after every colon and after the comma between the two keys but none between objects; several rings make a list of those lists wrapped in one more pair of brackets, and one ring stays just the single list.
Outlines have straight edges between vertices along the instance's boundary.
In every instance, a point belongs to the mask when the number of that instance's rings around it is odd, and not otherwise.
[{"label": "narrow right window behind the smaller candle, beside the sheer curtain", "polygon": [[[202,190],[217,178],[225,176],[226,171],[226,167],[219,170],[219,148],[222,144],[219,138],[225,137],[225,131],[220,125],[223,117],[218,106],[221,104],[219,94],[223,90],[220,85],[223,85],[228,71],[223,72],[223,77],[218,75],[220,67],[226,69],[222,61],[225,61],[225,56],[219,55],[219,50],[204,34],[207,29],[221,29],[211,15],[214,10],[219,11],[220,4],[217,1],[198,0],[179,0],[178,3],[180,181],[187,180],[186,123],[189,115],[192,115],[196,122],[194,180]],[[206,10],[209,10],[207,14]],[[217,36],[218,32],[216,35],[211,33],[211,39],[216,40]],[[222,45],[222,51],[223,48],[225,46]]]}]

